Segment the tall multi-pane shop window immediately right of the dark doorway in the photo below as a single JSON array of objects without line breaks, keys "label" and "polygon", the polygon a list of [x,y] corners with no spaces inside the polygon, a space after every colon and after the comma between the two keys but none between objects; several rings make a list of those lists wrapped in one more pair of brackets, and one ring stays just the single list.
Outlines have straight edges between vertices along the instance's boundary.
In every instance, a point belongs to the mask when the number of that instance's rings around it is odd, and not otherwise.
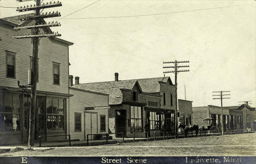
[{"label": "tall multi-pane shop window immediately right of the dark doorway", "polygon": [[131,106],[131,132],[142,131],[141,107]]}]

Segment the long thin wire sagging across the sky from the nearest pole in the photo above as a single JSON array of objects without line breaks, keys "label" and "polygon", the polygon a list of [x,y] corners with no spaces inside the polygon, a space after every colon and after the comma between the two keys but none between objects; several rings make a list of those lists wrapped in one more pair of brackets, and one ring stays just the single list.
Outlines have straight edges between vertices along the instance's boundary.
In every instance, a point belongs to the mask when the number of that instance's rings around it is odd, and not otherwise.
[{"label": "long thin wire sagging across the sky from the nearest pole", "polygon": [[[100,1],[100,0],[99,0]],[[98,2],[98,1],[97,1]],[[252,3],[250,3],[252,4]],[[173,11],[173,12],[168,12],[168,13],[156,13],[156,14],[145,14],[145,15],[124,15],[124,16],[102,16],[102,17],[77,17],[77,18],[63,18],[61,17],[60,19],[105,19],[105,18],[120,18],[120,17],[142,17],[142,16],[154,16],[154,15],[166,15],[166,14],[175,14],[175,13],[188,13],[188,12],[193,12],[193,11],[203,11],[203,10],[213,10],[213,9],[222,9],[222,8],[230,8],[230,7],[237,7],[240,5],[246,5],[246,4],[237,4],[237,5],[228,5],[224,7],[216,7],[216,8],[206,8],[206,9],[194,9],[194,10],[184,10],[184,11]],[[79,9],[79,11],[82,9]],[[77,11],[74,11],[75,13]],[[71,14],[73,14],[71,13]],[[69,15],[71,15],[69,14]],[[68,15],[66,15],[68,16]],[[64,17],[66,17],[64,16]]]}]

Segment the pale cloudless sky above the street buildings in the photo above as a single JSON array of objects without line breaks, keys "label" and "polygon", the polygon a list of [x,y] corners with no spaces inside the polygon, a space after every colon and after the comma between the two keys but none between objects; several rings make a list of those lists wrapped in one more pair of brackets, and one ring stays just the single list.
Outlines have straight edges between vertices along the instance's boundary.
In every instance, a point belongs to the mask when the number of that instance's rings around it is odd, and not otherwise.
[{"label": "pale cloudless sky above the street buildings", "polygon": [[[50,2],[50,0],[44,0]],[[178,73],[178,98],[193,107],[220,106],[212,91],[230,91],[223,106],[256,103],[255,1],[62,0],[61,27],[69,47],[69,74],[80,83],[164,77],[164,61],[188,60]],[[0,0],[0,17],[33,4]],[[171,64],[170,64],[171,65]],[[174,74],[168,73],[174,83]]]}]

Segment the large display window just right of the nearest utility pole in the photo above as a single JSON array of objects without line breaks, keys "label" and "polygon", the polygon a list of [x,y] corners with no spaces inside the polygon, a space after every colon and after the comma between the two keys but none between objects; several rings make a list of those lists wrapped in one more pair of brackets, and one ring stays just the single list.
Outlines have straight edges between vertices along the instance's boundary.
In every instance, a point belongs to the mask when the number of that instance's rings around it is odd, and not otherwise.
[{"label": "large display window just right of the nearest utility pole", "polygon": [[[59,102],[62,103],[59,104]],[[65,99],[62,98],[47,98],[46,99],[46,122],[48,131],[65,130],[65,115],[63,113],[63,104]],[[62,111],[60,113],[60,110]]]}]

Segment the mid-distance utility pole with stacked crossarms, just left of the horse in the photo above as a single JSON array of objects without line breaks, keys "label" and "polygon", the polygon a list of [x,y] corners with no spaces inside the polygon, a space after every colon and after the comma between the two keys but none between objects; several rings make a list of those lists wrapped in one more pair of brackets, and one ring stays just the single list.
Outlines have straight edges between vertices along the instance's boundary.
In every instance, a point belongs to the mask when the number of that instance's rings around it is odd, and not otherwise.
[{"label": "mid-distance utility pole with stacked crossarms, just left of the horse", "polygon": [[178,118],[177,118],[177,106],[178,106],[178,97],[177,97],[177,74],[179,72],[188,72],[189,69],[181,69],[178,70],[179,68],[183,68],[183,67],[189,67],[188,65],[182,65],[179,66],[179,63],[189,63],[189,61],[168,61],[168,62],[163,62],[164,64],[167,63],[173,63],[174,66],[164,66],[162,68],[173,68],[173,71],[164,71],[164,73],[174,73],[175,74],[175,138],[178,138]]}]

